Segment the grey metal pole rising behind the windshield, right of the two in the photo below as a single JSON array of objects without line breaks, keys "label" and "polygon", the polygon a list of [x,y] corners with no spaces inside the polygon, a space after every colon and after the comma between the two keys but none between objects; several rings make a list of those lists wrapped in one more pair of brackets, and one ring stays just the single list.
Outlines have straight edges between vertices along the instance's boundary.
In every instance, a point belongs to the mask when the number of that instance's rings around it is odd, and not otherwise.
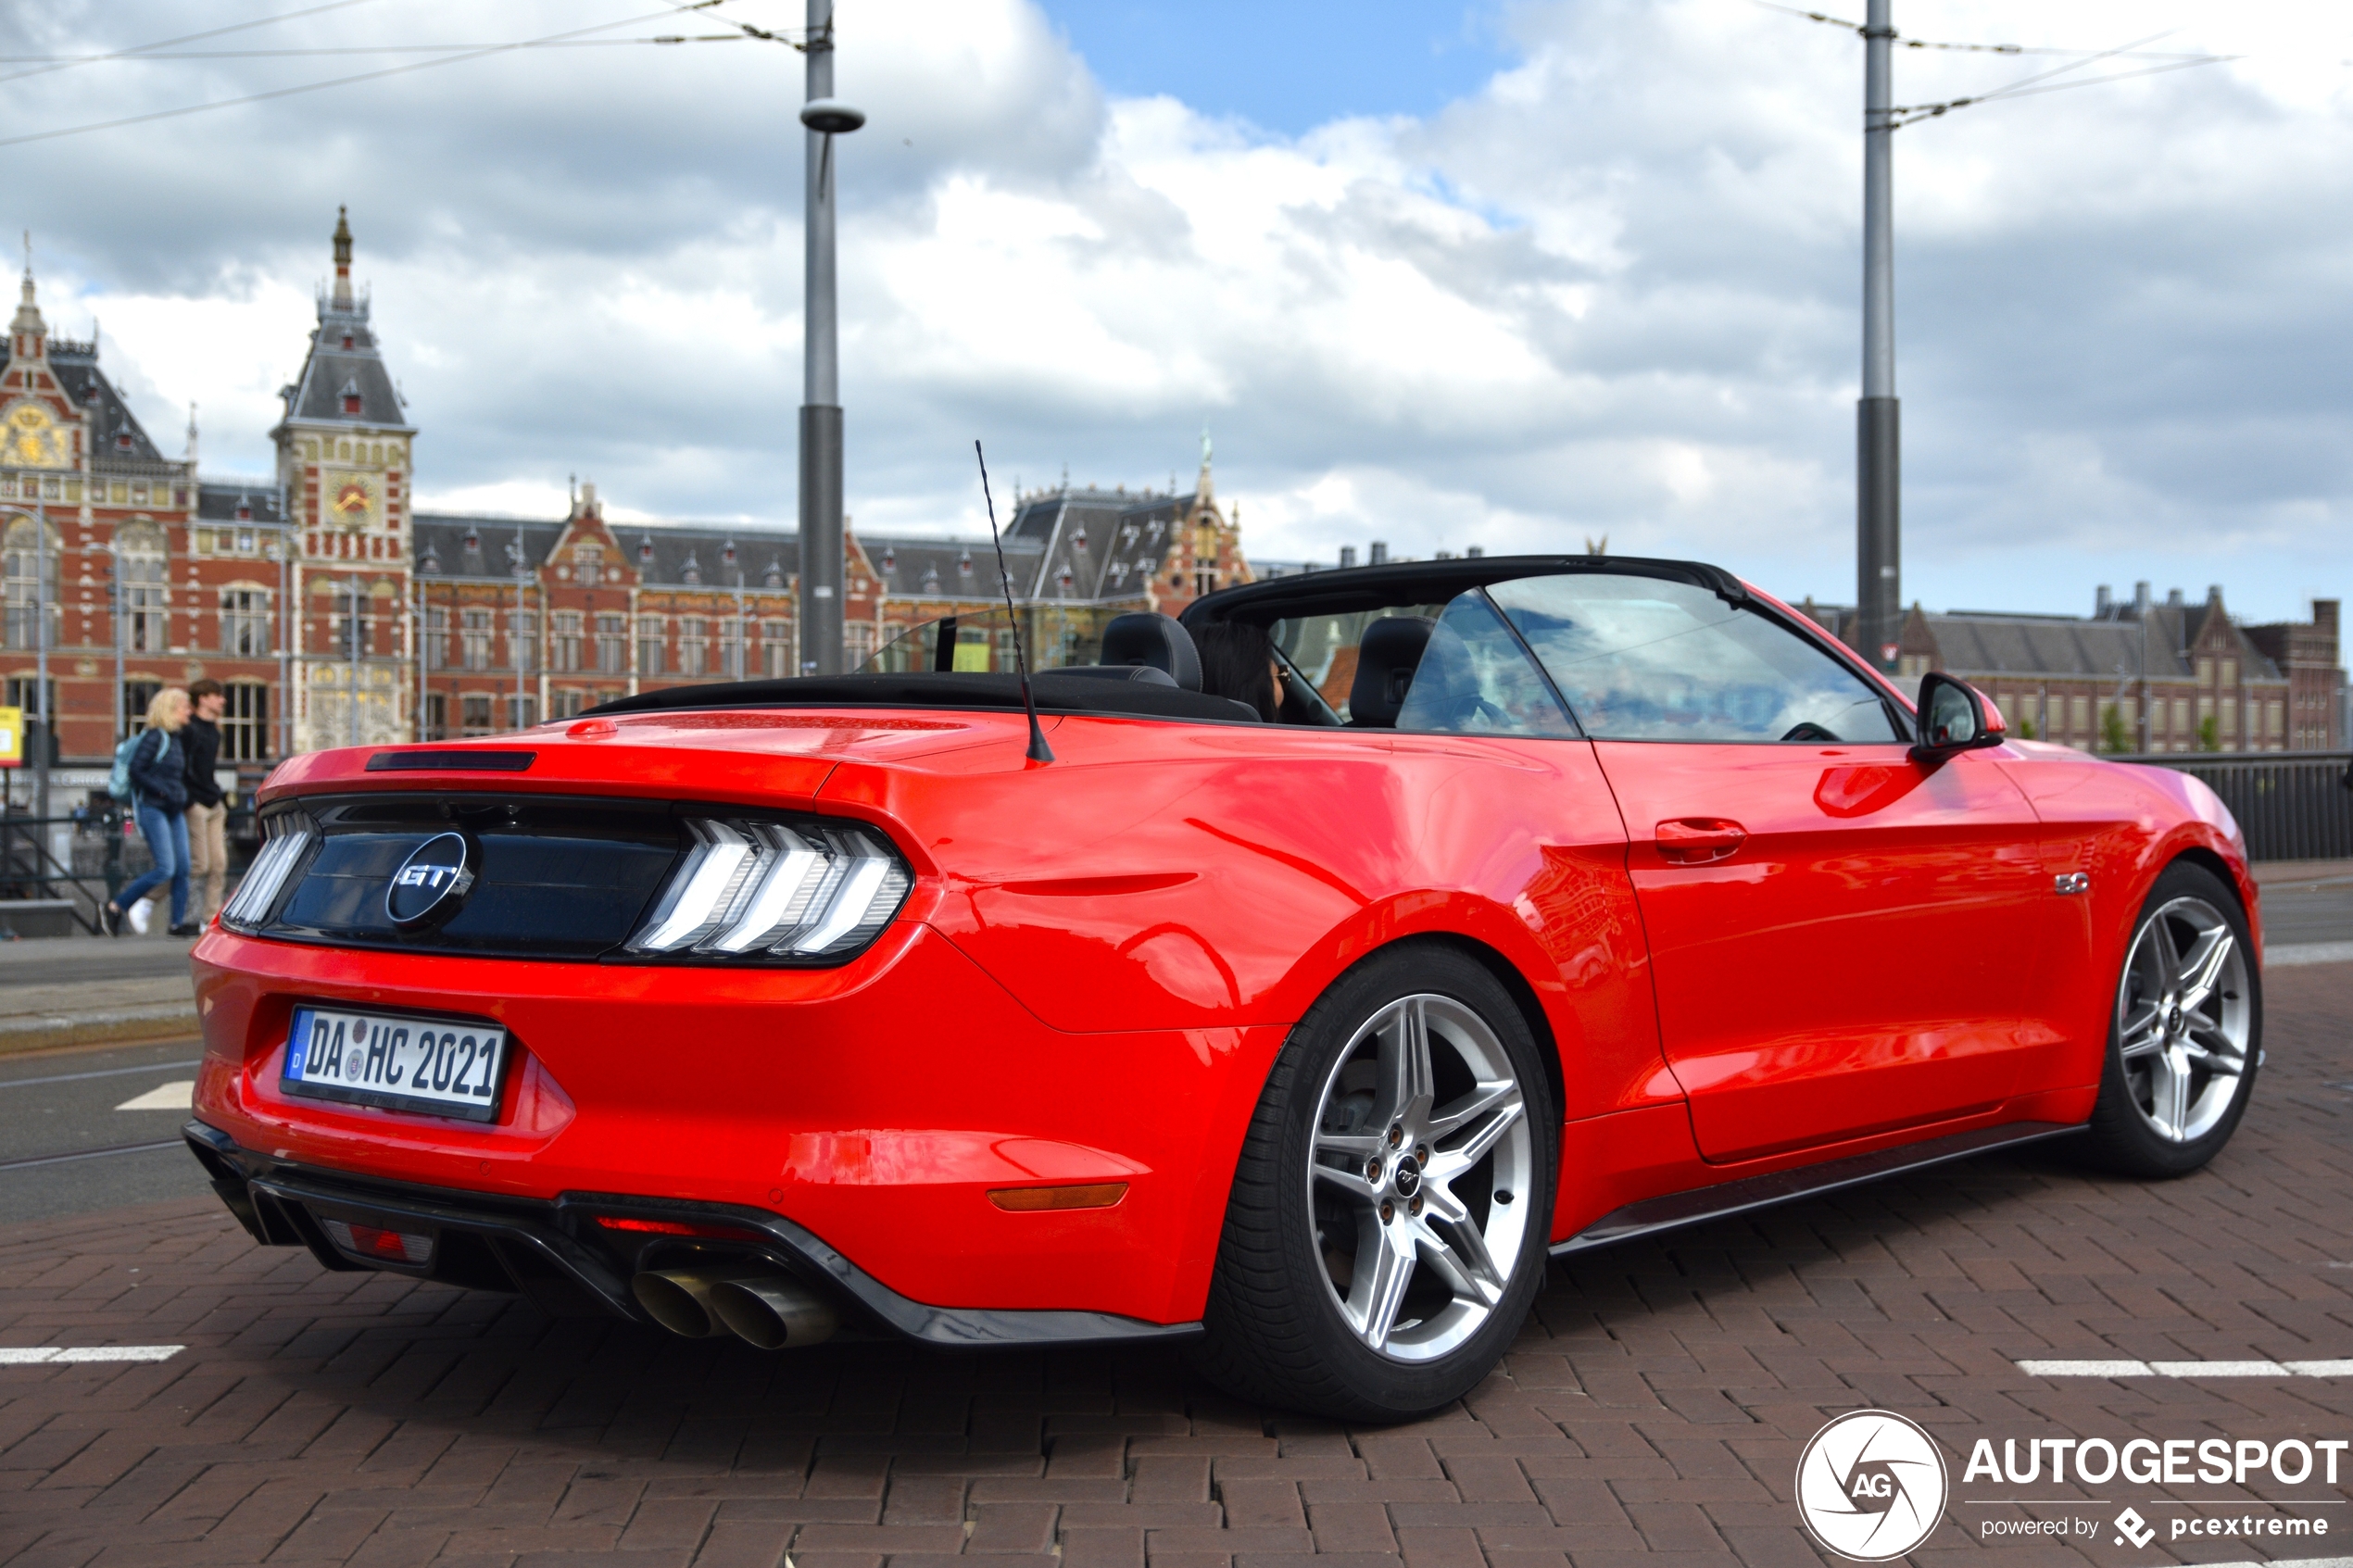
[{"label": "grey metal pole rising behind the windshield, right of the two", "polygon": [[1904,614],[1901,440],[1897,425],[1897,247],[1889,115],[1889,0],[1871,0],[1864,26],[1864,397],[1854,414],[1854,646],[1880,670],[1897,665]]}]

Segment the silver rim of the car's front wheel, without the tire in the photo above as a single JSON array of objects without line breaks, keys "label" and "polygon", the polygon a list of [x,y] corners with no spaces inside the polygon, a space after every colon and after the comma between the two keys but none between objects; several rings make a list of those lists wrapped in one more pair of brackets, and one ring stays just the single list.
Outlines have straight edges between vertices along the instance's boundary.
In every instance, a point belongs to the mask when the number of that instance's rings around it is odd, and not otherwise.
[{"label": "silver rim of the car's front wheel, without the tire", "polygon": [[2115,992],[2125,1093],[2167,1143],[2193,1143],[2231,1110],[2247,1072],[2247,952],[2202,898],[2174,898],[2132,938]]}]

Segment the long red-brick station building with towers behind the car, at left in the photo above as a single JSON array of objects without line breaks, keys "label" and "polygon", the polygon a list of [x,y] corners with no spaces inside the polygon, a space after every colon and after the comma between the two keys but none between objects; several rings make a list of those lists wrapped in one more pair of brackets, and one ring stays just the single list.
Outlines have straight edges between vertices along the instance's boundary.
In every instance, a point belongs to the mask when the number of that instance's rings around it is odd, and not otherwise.
[{"label": "long red-brick station building with towers behind the car, at left", "polygon": [[[96,766],[165,684],[228,689],[224,762],[348,743],[494,733],[635,691],[795,675],[800,543],[758,524],[612,522],[595,487],[562,517],[414,510],[414,451],[351,226],[266,480],[167,458],[99,369],[52,339],[31,273],[0,353],[7,701],[31,708],[35,623],[59,752]],[[42,536],[45,529],[45,536]],[[45,538],[45,543],[42,543]],[[1191,494],[1016,496],[1012,595],[1040,663],[1082,663],[1129,609],[1176,614],[1249,581],[1207,442]],[[939,616],[1002,607],[986,541],[849,531],[845,661]],[[960,651],[1002,668],[1009,639]]]}]

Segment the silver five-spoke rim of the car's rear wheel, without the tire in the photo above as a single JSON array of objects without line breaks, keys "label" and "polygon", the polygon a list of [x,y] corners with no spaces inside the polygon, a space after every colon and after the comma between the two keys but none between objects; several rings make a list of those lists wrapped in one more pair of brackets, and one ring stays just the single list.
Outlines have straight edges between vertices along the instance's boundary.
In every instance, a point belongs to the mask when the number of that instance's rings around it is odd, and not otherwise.
[{"label": "silver five-spoke rim of the car's rear wheel, without the tire", "polygon": [[1431,1361],[1494,1316],[1529,1215],[1537,1150],[1504,1041],[1452,997],[1377,1011],[1315,1103],[1308,1206],[1348,1331]]}]

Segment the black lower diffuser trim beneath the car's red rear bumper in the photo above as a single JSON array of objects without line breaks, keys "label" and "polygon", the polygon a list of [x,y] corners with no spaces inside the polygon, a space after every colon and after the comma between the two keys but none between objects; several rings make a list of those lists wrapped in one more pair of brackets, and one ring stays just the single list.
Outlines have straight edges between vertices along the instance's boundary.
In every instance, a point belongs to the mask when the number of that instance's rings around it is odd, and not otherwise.
[{"label": "black lower diffuser trim beneath the car's red rear bumper", "polygon": [[[1101,1345],[1200,1333],[1200,1324],[1146,1324],[1111,1312],[932,1307],[899,1295],[819,1237],[760,1208],[614,1192],[522,1199],[426,1187],[275,1159],[202,1121],[188,1121],[181,1133],[212,1190],[264,1246],[306,1246],[329,1269],[384,1269],[478,1291],[515,1291],[555,1316],[652,1321],[631,1293],[638,1269],[744,1260],[779,1267],[826,1295],[845,1324],[925,1345]],[[600,1218],[701,1234],[609,1229]],[[431,1251],[419,1262],[362,1258],[336,1244],[332,1222],[428,1237]]]}]

